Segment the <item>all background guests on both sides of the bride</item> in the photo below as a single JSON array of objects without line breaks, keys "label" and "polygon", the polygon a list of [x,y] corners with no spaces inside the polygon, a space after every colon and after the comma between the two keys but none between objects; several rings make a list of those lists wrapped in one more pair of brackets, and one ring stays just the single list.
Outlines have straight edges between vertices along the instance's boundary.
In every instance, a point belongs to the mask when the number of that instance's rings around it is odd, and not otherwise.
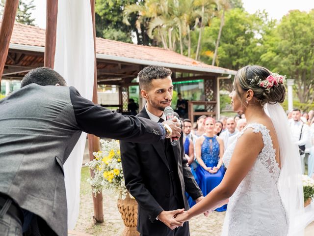
[{"label": "all background guests on both sides of the bride", "polygon": [[[300,109],[287,112],[291,133],[299,146],[302,172],[314,178],[314,110],[302,113]],[[215,188],[225,174],[222,157],[226,148],[235,141],[236,134],[246,126],[244,114],[215,120],[200,116],[196,125],[183,119],[183,143],[188,165],[204,196]],[[306,164],[308,166],[306,170]],[[190,207],[195,202],[188,197]],[[226,210],[226,205],[216,211]]]}]

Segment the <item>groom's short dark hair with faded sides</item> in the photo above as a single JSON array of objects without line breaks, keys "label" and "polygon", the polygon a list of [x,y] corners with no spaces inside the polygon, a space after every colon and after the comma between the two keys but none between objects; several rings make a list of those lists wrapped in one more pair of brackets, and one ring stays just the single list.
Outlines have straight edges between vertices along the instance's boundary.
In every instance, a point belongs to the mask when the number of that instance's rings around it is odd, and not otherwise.
[{"label": "groom's short dark hair with faded sides", "polygon": [[149,89],[154,79],[164,79],[172,74],[171,70],[158,65],[150,65],[138,73],[139,87]]}]

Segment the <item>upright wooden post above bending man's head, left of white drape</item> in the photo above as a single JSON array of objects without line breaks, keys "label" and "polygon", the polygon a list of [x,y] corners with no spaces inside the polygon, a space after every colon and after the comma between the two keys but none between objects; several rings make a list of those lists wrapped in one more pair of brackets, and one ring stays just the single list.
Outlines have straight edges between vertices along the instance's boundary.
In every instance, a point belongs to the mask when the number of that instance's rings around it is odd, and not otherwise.
[{"label": "upright wooden post above bending man's head, left of white drape", "polygon": [[58,0],[47,0],[46,12],[47,16],[44,66],[53,69],[57,31]]}]

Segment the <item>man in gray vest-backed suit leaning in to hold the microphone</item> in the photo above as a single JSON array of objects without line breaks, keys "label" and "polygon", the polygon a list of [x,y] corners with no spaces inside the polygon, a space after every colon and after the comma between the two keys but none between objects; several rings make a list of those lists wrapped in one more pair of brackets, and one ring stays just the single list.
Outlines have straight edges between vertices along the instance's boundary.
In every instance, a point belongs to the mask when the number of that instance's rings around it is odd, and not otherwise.
[{"label": "man in gray vest-backed suit leaning in to hold the microphone", "polygon": [[0,100],[0,236],[67,235],[63,164],[82,131],[147,144],[180,137],[175,120],[112,113],[49,68],[30,71],[21,87]]}]

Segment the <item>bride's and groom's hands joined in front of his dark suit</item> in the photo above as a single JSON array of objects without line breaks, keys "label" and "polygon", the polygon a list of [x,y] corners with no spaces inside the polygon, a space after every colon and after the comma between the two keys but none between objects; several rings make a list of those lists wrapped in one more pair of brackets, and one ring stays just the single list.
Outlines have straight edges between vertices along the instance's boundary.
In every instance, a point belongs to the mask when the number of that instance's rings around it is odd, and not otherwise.
[{"label": "bride's and groom's hands joined in front of his dark suit", "polygon": [[[196,203],[200,202],[204,197],[199,197],[195,200]],[[209,215],[209,211],[204,212],[204,215],[207,217]],[[168,226],[171,230],[178,228],[179,226],[183,226],[185,221],[189,220],[189,216],[187,211],[184,209],[177,210],[163,210],[158,215],[158,220],[163,222],[166,226]]]}]

